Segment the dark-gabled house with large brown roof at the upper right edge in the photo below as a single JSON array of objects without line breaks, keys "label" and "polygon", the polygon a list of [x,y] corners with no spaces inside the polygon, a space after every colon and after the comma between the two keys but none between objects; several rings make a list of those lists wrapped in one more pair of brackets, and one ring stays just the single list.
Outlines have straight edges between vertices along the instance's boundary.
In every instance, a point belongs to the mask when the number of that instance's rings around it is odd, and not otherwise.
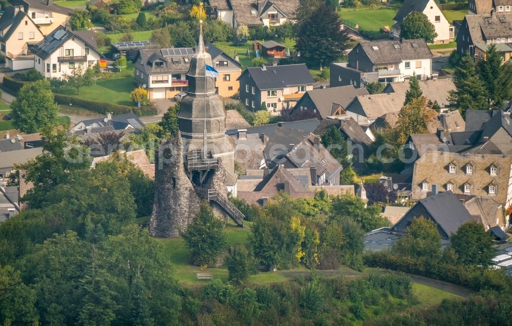
[{"label": "dark-gabled house with large brown roof at the upper right edge", "polygon": [[457,51],[483,56],[487,46],[496,44],[503,59],[510,58],[512,43],[512,12],[493,10],[466,15],[457,34]]}]

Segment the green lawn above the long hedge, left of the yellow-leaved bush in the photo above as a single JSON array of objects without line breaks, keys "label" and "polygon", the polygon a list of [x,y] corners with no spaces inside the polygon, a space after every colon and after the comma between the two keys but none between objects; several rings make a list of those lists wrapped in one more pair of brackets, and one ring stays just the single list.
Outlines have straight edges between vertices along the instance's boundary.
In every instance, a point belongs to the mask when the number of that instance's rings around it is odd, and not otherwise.
[{"label": "green lawn above the long hedge, left of the yellow-leaved bush", "polygon": [[78,96],[92,101],[108,102],[120,105],[133,105],[130,92],[135,88],[133,77],[98,80],[95,85],[83,87],[80,94],[76,94],[76,89],[61,88],[57,93]]}]

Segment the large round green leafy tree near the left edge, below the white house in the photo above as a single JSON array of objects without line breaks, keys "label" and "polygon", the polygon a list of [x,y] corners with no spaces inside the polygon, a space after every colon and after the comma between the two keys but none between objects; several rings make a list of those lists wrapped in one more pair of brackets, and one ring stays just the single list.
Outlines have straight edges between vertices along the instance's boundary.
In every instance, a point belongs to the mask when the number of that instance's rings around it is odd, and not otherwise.
[{"label": "large round green leafy tree near the left edge, below the white house", "polygon": [[14,127],[25,133],[40,132],[56,125],[58,105],[47,80],[24,85],[11,108]]}]

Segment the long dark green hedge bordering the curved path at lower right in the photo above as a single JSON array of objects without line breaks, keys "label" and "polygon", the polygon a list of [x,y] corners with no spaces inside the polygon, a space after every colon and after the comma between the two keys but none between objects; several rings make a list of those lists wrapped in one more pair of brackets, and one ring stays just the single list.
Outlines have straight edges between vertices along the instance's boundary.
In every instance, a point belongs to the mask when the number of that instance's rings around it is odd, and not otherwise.
[{"label": "long dark green hedge bordering the curved path at lower right", "polygon": [[467,268],[441,263],[435,259],[396,255],[386,250],[368,253],[364,259],[365,265],[370,267],[387,268],[421,275],[462,285],[477,291],[482,289],[505,291],[512,286],[501,269]]}]

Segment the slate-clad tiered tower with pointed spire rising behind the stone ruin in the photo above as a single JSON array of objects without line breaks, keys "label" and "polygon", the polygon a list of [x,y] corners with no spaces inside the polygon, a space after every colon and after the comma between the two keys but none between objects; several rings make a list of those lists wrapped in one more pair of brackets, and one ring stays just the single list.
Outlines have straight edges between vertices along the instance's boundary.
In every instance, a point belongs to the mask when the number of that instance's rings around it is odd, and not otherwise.
[{"label": "slate-clad tiered tower with pointed spire rising behind the stone ruin", "polygon": [[181,101],[178,114],[183,154],[202,150],[220,158],[226,172],[234,175],[234,141],[226,135],[224,99],[216,93],[215,78],[206,76],[206,65],[212,67],[206,52],[200,21],[199,44],[187,72],[187,96]]}]

